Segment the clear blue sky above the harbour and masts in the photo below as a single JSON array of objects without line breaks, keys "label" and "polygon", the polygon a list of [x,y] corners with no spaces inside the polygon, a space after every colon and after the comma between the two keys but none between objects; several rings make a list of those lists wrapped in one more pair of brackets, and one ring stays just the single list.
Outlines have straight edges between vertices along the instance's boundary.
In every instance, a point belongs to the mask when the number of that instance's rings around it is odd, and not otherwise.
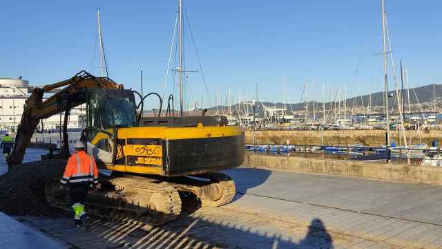
[{"label": "clear blue sky above the harbour and masts", "polygon": [[[403,60],[410,85],[441,82],[442,3],[386,4],[396,64]],[[188,0],[185,6],[212,102],[216,89],[224,99],[229,86],[233,99],[253,98],[255,84],[260,100],[283,101],[282,77],[292,102],[313,77],[316,100],[322,84],[327,99],[344,82],[348,96],[383,89],[382,56],[374,55],[382,50],[381,0]],[[97,8],[109,76],[139,90],[143,70],[144,92],[162,92],[177,1],[0,1],[0,77],[50,84],[81,69],[98,74]],[[186,65],[195,70],[189,38],[186,33]],[[188,82],[188,98],[209,104],[200,73],[189,73]],[[169,81],[167,94],[172,89]]]}]

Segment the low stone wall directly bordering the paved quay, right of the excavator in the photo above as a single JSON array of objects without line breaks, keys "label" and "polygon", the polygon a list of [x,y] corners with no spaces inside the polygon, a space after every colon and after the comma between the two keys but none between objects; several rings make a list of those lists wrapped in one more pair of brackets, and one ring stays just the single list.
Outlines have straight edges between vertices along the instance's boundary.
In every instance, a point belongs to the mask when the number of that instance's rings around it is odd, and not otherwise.
[{"label": "low stone wall directly bordering the paved quay, right of the excavator", "polygon": [[442,185],[442,167],[247,153],[242,167]]}]

